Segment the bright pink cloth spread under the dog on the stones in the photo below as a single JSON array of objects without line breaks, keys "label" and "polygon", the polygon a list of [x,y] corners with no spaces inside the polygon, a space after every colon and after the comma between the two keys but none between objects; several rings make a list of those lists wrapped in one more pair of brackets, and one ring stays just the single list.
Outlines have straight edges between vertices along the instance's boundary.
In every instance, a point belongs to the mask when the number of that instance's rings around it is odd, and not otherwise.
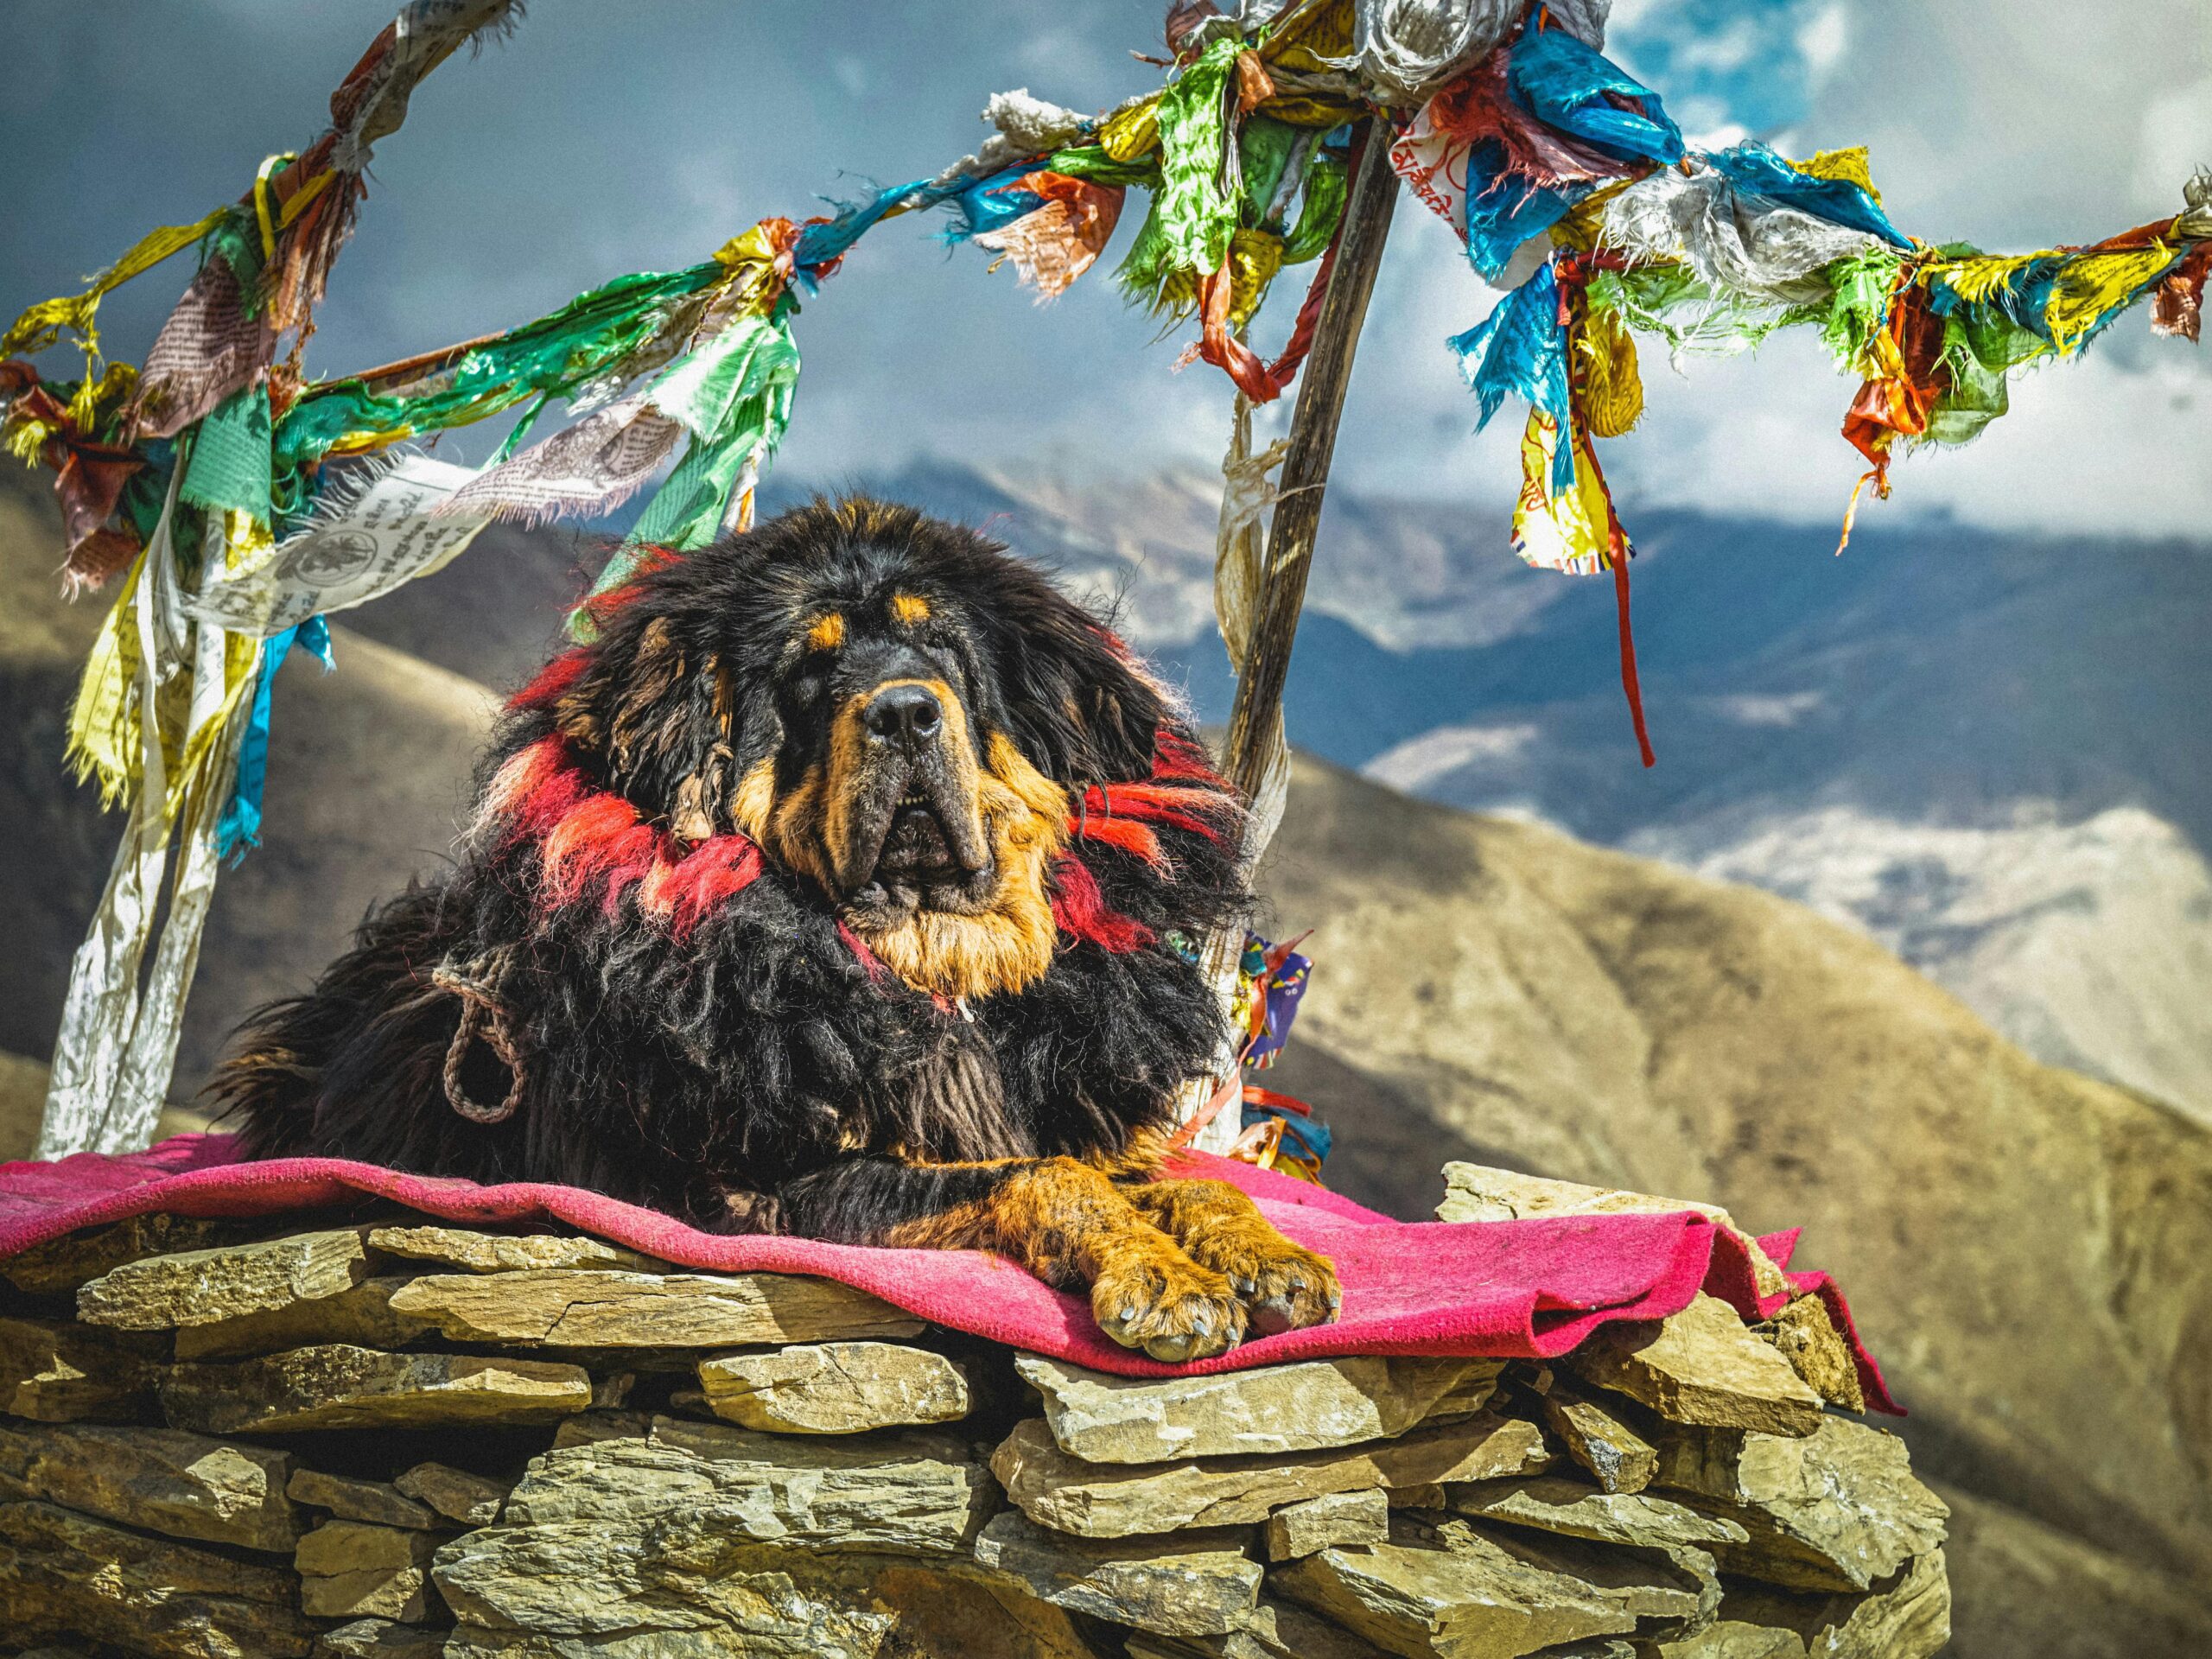
[{"label": "bright pink cloth spread under the dog on the stones", "polygon": [[[239,1164],[228,1135],[177,1135],[146,1152],[80,1152],[58,1164],[0,1164],[0,1259],[77,1228],[164,1210],[259,1217],[352,1203],[363,1194],[445,1221],[546,1223],[710,1272],[818,1274],[936,1325],[1121,1376],[1241,1371],[1325,1354],[1491,1354],[1553,1358],[1610,1321],[1666,1318],[1699,1290],[1745,1318],[1759,1298],[1743,1245],[1694,1212],[1588,1214],[1531,1221],[1391,1221],[1334,1192],[1201,1152],[1181,1172],[1234,1181],[1267,1219],[1336,1263],[1345,1307],[1334,1325],[1259,1336],[1188,1367],[1161,1365],[1104,1336],[1091,1303],[1046,1287],[982,1250],[872,1250],[816,1239],[699,1232],[599,1192],[515,1181],[478,1186],[330,1157]],[[1761,1241],[1787,1263],[1796,1234]],[[1816,1292],[1858,1360],[1867,1402],[1896,1411],[1880,1367],[1858,1343],[1827,1274],[1790,1274]]]}]

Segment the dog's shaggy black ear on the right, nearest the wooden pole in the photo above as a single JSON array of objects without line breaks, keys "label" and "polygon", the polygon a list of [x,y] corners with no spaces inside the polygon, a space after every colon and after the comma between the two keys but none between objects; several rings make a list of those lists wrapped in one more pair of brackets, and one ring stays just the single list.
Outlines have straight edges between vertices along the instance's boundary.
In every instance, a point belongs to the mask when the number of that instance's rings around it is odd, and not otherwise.
[{"label": "dog's shaggy black ear on the right, nearest the wooden pole", "polygon": [[995,726],[1057,783],[1152,774],[1161,726],[1179,728],[1172,697],[1082,606],[1042,580],[1000,595],[982,617],[995,664]]}]

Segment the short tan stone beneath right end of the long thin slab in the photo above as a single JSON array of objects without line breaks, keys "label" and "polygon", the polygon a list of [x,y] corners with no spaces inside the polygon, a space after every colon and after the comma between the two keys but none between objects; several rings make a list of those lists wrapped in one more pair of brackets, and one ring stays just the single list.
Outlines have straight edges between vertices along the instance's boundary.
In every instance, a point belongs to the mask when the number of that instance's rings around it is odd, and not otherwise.
[{"label": "short tan stone beneath right end of the long thin slab", "polygon": [[942,1354],[898,1343],[799,1343],[699,1360],[706,1409],[745,1429],[863,1433],[969,1413],[969,1383]]}]

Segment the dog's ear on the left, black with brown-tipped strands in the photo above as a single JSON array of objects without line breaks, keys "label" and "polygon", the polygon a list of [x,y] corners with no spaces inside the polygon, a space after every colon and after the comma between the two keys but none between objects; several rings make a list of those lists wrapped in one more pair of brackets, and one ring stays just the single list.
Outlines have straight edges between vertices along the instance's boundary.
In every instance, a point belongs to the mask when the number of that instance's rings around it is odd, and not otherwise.
[{"label": "dog's ear on the left, black with brown-tipped strands", "polygon": [[781,741],[759,730],[774,723],[770,699],[741,699],[730,666],[686,648],[668,617],[624,622],[553,706],[562,737],[677,841],[743,827],[748,759]]}]

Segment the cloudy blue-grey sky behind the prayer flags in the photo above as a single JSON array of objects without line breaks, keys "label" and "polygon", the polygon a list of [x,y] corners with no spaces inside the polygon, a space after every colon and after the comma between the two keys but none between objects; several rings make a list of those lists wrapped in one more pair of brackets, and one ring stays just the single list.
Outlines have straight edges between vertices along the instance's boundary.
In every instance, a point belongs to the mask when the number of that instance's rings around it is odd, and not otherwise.
[{"label": "cloudy blue-grey sky behind the prayer flags", "polygon": [[[265,153],[321,128],[330,88],[392,13],[392,0],[0,7],[15,18],[0,100],[9,312],[146,228],[237,197]],[[975,111],[998,88],[1108,106],[1157,77],[1130,49],[1157,51],[1159,13],[1157,0],[535,0],[511,42],[434,75],[380,146],[310,367],[507,327],[613,274],[692,263],[763,215],[936,173],[980,142]],[[1869,144],[1891,215],[1931,241],[2090,241],[2174,212],[2190,168],[2212,161],[2201,0],[1617,0],[1613,53],[1692,135],[1754,133],[1796,153]],[[1172,374],[1177,347],[1152,343],[1104,270],[1037,310],[1011,270],[984,263],[947,257],[914,219],[856,250],[799,323],[787,476],[914,456],[1117,471],[1219,460],[1225,380]],[[108,301],[115,352],[144,349],[184,276],[179,261]],[[1502,535],[1517,420],[1471,438],[1442,349],[1491,299],[1444,226],[1402,206],[1338,478],[1467,500],[1471,533]],[[1290,310],[1279,296],[1261,334],[1287,330]],[[1701,361],[1686,378],[1646,347],[1646,380],[1648,420],[1606,462],[1630,520],[1657,502],[1840,513],[1851,385],[1812,343]],[[473,438],[447,453],[478,456]],[[1980,445],[1909,460],[1896,500],[1869,511],[2201,533],[2208,440],[2203,354],[2135,316],[2090,361],[2017,385]]]}]

